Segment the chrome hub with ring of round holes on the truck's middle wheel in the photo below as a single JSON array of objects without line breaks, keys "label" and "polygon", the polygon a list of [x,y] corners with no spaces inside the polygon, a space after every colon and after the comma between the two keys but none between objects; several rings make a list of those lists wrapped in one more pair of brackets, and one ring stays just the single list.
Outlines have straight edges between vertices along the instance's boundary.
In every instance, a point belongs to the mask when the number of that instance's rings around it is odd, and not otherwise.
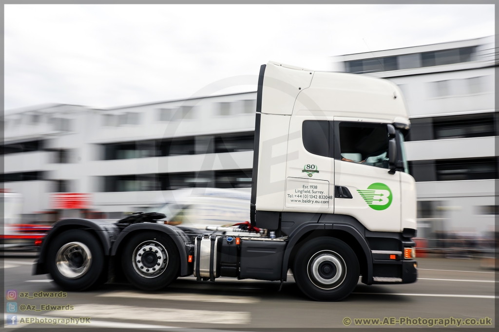
[{"label": "chrome hub with ring of round holes on the truck's middle wheel", "polygon": [[168,266],[168,252],[159,242],[142,242],[133,252],[132,265],[142,277],[156,278]]}]

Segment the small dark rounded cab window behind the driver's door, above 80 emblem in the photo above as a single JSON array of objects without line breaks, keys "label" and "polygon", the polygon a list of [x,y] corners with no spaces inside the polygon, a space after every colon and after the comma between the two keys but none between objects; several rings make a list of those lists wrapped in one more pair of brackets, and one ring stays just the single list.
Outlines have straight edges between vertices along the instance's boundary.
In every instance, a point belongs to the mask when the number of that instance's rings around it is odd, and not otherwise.
[{"label": "small dark rounded cab window behind the driver's door, above 80 emblem", "polygon": [[303,147],[305,147],[305,150],[314,155],[330,157],[329,127],[329,121],[303,121],[301,126],[301,138],[303,140]]}]

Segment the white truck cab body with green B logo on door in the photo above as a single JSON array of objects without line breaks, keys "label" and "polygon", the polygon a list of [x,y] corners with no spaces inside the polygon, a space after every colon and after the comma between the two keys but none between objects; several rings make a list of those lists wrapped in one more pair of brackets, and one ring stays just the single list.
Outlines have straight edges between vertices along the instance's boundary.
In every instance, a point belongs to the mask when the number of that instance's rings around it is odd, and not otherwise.
[{"label": "white truck cab body with green B logo on door", "polygon": [[349,215],[370,231],[416,229],[400,89],[388,80],[274,62],[262,71],[252,210]]}]

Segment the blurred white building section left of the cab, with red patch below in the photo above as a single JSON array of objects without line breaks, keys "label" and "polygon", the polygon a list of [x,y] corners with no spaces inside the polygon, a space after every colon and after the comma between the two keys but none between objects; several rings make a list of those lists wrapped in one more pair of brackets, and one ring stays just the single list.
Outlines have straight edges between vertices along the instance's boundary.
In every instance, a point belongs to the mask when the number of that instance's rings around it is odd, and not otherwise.
[{"label": "blurred white building section left of the cab, with red patch below", "polygon": [[[4,186],[24,221],[117,219],[179,188],[250,191],[256,93],[5,116]],[[249,209],[249,207],[248,207]]]}]

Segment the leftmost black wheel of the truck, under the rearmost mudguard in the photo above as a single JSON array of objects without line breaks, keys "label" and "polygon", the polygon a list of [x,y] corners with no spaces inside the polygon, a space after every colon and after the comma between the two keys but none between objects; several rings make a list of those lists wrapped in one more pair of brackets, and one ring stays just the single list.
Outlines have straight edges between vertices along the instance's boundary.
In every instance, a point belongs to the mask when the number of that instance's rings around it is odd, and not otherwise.
[{"label": "leftmost black wheel of the truck, under the rearmost mudguard", "polygon": [[[70,243],[83,244],[86,249],[83,249],[84,247],[79,245],[73,244],[71,246],[69,245]],[[63,254],[64,252],[71,252],[71,250],[73,251],[69,256]],[[80,251],[78,252],[78,250]],[[82,258],[85,257],[85,255],[81,255],[81,252],[84,252],[84,250],[90,252],[90,259]],[[60,256],[58,255],[59,251],[61,253]],[[56,263],[58,257],[64,256],[71,257],[71,259],[66,262],[73,268],[78,267],[80,262],[85,261],[88,262],[88,266],[81,275],[75,273],[76,276],[68,277],[63,274],[64,272],[61,272],[67,271],[67,268],[64,270],[61,265]],[[81,266],[84,265],[85,264]],[[83,291],[93,286],[97,281],[102,280],[104,272],[104,251],[102,250],[102,245],[99,240],[90,232],[83,229],[67,230],[60,233],[52,240],[47,251],[46,266],[48,273],[57,285],[68,291]]]}]

